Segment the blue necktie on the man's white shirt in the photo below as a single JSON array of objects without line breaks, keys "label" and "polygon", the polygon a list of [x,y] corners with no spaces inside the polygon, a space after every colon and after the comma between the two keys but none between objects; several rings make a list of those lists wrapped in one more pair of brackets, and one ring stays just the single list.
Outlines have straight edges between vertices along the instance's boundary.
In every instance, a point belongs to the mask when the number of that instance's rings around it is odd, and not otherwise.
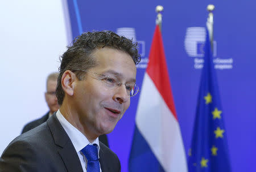
[{"label": "blue necktie on the man's white shirt", "polygon": [[98,161],[98,149],[96,146],[96,144],[88,144],[81,150],[87,158],[87,172],[100,172],[100,162]]}]

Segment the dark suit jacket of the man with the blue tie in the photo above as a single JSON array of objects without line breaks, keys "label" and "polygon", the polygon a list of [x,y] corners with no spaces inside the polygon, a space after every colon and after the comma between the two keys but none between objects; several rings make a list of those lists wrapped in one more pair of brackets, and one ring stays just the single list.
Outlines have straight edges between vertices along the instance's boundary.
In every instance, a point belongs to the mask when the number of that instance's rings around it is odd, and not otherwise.
[{"label": "dark suit jacket of the man with the blue tie", "polygon": [[[119,159],[100,142],[102,172],[121,171]],[[56,113],[47,122],[16,137],[0,158],[0,171],[82,172],[79,156]]]}]

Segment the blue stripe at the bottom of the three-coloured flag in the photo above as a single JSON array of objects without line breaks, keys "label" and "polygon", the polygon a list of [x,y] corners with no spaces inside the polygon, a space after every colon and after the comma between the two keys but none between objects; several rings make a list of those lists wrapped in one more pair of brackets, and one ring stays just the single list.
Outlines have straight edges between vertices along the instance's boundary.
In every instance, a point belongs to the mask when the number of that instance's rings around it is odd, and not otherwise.
[{"label": "blue stripe at the bottom of the three-coloured flag", "polygon": [[133,145],[131,146],[129,158],[129,171],[164,171],[137,126],[134,129]]}]

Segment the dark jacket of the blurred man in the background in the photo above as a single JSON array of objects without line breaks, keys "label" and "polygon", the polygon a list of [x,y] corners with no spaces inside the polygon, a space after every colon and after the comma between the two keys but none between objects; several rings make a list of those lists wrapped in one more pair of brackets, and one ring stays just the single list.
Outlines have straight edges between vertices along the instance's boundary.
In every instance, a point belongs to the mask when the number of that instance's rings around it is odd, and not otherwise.
[{"label": "dark jacket of the blurred man in the background", "polygon": [[[27,132],[27,131],[29,131],[29,130],[31,130],[31,129],[37,127],[37,126],[39,126],[40,124],[46,122],[47,119],[48,119],[48,117],[49,117],[49,111],[48,111],[45,115],[43,115],[42,118],[36,119],[35,121],[32,121],[32,122],[26,124],[26,126],[24,126],[24,128],[23,128],[23,130],[22,130],[22,134],[23,134],[24,132]],[[107,137],[106,135],[101,135],[101,136],[99,136],[99,137],[98,137],[98,140],[100,140],[100,141],[101,141],[102,143],[104,143],[107,147],[109,147],[109,141],[108,141],[108,137]]]}]

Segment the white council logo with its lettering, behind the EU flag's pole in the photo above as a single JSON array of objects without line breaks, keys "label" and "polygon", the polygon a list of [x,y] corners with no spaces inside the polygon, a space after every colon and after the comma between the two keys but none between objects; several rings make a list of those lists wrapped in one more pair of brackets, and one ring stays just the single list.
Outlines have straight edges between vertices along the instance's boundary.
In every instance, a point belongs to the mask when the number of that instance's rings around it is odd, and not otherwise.
[{"label": "white council logo with its lettering, behind the EU flag's pole", "polygon": [[[194,68],[200,69],[204,66],[204,43],[206,30],[204,27],[189,27],[185,33],[184,48],[189,57],[194,59]],[[217,42],[213,41],[213,57],[217,57]],[[217,69],[232,69],[233,58],[213,59],[214,68]]]}]

